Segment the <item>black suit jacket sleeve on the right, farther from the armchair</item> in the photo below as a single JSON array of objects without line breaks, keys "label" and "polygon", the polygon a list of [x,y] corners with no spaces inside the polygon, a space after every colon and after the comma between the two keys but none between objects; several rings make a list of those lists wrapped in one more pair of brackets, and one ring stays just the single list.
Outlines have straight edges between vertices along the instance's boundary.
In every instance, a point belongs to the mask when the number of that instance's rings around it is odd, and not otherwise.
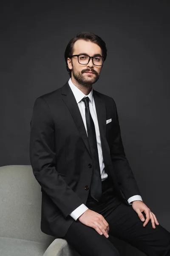
[{"label": "black suit jacket sleeve on the right, farther from the armchair", "polygon": [[124,194],[126,200],[128,200],[134,195],[140,195],[140,192],[125,155],[121,138],[119,117],[117,113],[116,103],[114,102],[114,100],[113,108],[115,111],[115,122],[113,127],[113,141],[111,144],[111,160],[113,170],[116,174],[116,178],[119,184],[119,188],[122,190],[122,193]]}]

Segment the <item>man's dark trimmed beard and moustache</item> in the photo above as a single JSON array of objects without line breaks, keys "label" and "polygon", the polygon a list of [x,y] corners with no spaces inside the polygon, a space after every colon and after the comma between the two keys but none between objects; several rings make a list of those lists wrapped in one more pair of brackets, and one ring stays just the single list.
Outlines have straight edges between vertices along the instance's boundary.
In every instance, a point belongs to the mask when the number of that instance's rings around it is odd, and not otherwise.
[{"label": "man's dark trimmed beard and moustache", "polygon": [[[87,71],[92,71],[94,75],[85,76],[83,73]],[[96,81],[99,79],[100,73],[97,73],[94,69],[85,69],[82,71],[76,70],[74,67],[72,68],[72,74],[74,76],[74,79],[81,84],[83,87],[89,87],[89,85],[96,83]]]}]

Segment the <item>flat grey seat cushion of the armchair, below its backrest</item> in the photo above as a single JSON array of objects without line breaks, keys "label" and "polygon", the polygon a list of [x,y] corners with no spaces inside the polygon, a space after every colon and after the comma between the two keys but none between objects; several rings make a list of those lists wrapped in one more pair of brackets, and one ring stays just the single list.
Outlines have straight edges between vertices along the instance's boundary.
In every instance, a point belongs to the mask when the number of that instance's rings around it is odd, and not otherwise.
[{"label": "flat grey seat cushion of the armchair, below its backrest", "polygon": [[47,247],[41,242],[0,237],[0,256],[43,256]]}]

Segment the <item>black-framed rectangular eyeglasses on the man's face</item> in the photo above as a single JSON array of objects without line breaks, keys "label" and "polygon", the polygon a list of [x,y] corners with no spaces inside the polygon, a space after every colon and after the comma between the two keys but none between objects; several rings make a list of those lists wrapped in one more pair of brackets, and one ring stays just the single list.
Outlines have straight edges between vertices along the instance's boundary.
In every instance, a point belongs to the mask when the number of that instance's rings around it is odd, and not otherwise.
[{"label": "black-framed rectangular eyeglasses on the man's face", "polygon": [[71,58],[76,56],[78,58],[79,64],[82,64],[82,65],[87,65],[91,58],[95,66],[102,66],[104,61],[104,58],[102,56],[90,57],[89,55],[86,55],[86,54],[72,55]]}]

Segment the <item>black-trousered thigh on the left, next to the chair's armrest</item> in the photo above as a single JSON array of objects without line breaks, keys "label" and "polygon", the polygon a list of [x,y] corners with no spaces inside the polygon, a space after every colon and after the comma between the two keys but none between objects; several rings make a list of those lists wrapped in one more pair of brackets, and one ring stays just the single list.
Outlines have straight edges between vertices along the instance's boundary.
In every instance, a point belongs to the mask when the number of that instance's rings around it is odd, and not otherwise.
[{"label": "black-trousered thigh on the left, next to the chair's armrest", "polygon": [[104,235],[80,221],[74,221],[63,238],[81,256],[119,256],[116,247]]}]

